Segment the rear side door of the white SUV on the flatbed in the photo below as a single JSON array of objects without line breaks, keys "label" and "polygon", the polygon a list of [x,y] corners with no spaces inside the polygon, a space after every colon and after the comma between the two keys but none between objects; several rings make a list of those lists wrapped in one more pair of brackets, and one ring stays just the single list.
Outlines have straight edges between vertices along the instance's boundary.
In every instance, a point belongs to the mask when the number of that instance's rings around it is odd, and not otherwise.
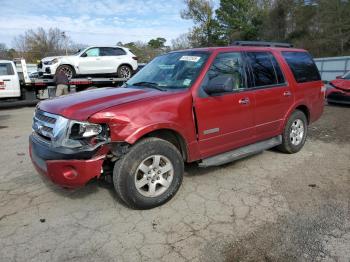
[{"label": "rear side door of the white SUV on the flatbed", "polygon": [[102,47],[100,50],[106,73],[116,73],[119,65],[125,60],[126,52],[117,47]]}]

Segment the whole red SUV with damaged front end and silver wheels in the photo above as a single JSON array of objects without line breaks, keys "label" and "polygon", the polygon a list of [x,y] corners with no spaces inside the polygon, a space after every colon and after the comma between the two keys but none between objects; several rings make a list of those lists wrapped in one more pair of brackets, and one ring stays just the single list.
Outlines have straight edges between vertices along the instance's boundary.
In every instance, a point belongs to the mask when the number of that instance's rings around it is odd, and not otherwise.
[{"label": "whole red SUV with damaged front end and silver wheels", "polygon": [[289,45],[171,52],[121,88],[41,102],[30,155],[61,186],[112,174],[127,205],[152,208],[175,195],[184,162],[218,166],[272,147],[298,152],[323,112],[324,91],[311,56]]}]

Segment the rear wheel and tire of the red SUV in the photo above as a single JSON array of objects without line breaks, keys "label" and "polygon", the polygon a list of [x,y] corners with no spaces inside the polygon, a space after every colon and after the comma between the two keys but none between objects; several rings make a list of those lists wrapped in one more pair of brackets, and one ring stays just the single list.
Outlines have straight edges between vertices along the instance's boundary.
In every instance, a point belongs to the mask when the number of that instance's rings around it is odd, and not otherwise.
[{"label": "rear wheel and tire of the red SUV", "polygon": [[305,144],[306,136],[306,116],[302,111],[296,110],[289,117],[282,134],[282,144],[277,148],[289,154],[299,152]]}]

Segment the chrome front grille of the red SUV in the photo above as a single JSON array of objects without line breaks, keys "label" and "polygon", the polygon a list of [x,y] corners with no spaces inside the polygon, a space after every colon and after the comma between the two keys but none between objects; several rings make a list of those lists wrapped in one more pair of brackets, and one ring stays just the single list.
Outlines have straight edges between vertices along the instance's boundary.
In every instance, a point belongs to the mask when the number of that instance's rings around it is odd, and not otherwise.
[{"label": "chrome front grille of the red SUV", "polygon": [[33,119],[33,130],[42,139],[51,141],[54,136],[54,127],[58,117],[37,109]]}]

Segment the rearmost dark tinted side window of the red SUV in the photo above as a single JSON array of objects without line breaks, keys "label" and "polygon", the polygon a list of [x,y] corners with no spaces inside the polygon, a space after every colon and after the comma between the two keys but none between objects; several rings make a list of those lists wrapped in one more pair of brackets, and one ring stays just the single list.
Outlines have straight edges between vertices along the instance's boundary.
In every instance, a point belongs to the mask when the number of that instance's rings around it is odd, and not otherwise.
[{"label": "rearmost dark tinted side window of the red SUV", "polygon": [[282,55],[286,59],[298,83],[321,80],[320,73],[308,53],[282,52]]}]

